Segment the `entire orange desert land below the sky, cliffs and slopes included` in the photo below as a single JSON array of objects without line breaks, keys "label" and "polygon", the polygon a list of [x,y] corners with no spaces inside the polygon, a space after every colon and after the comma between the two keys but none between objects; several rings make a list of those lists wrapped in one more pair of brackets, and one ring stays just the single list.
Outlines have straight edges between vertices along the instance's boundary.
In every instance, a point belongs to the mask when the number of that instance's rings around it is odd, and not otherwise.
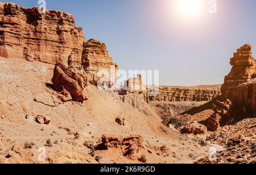
[{"label": "entire orange desert land below the sky, cliffs and slopes included", "polygon": [[256,163],[250,44],[223,85],[151,96],[139,74],[127,89],[98,88],[118,65],[71,14],[0,2],[0,18],[0,163]]}]

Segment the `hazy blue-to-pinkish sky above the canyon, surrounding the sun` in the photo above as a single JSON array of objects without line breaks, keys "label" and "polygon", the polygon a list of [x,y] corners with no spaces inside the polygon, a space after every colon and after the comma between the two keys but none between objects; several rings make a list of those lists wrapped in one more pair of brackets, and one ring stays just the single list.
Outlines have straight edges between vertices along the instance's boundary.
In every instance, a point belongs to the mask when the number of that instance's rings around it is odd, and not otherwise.
[{"label": "hazy blue-to-pinkish sky above the canyon, surrounding the sun", "polygon": [[106,43],[120,69],[157,69],[161,85],[222,84],[238,47],[250,43],[256,57],[256,1],[217,0],[217,14],[203,1],[193,18],[181,15],[175,0],[46,0],[46,7],[73,14],[86,39]]}]

